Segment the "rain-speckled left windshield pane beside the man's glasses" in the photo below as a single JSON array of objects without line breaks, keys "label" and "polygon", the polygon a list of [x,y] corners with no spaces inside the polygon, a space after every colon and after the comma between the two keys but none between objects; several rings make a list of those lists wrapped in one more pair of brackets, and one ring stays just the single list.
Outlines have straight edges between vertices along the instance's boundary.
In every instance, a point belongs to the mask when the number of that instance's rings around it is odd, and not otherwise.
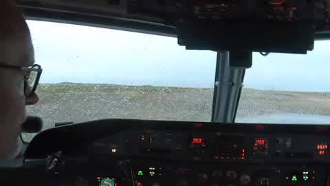
[{"label": "rain-speckled left windshield pane beside the man's glasses", "polygon": [[216,52],[186,50],[173,37],[45,21],[28,25],[43,67],[40,101],[28,106],[28,114],[41,116],[44,130],[103,118],[210,121]]}]

